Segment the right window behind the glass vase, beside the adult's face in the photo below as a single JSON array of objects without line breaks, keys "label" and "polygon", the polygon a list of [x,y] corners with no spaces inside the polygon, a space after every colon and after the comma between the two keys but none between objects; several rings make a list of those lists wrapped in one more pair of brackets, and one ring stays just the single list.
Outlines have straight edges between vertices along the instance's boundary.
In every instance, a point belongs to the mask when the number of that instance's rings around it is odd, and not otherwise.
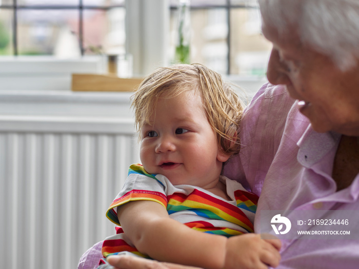
[{"label": "right window behind the glass vase, beside the adult's face", "polygon": [[[178,0],[171,0],[171,58]],[[271,44],[261,34],[256,0],[191,0],[191,62],[228,75],[260,76]]]}]

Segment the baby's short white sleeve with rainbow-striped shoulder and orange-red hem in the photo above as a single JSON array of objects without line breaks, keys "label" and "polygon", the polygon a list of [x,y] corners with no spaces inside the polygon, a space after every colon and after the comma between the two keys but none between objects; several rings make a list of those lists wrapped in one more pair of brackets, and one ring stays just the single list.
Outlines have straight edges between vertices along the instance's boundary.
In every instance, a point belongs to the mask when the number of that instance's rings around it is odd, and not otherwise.
[{"label": "baby's short white sleeve with rainbow-striped shoulder and orange-red hem", "polygon": [[116,225],[119,225],[117,218],[117,206],[130,201],[148,200],[155,201],[167,207],[167,195],[165,185],[155,175],[148,174],[141,164],[132,164],[129,168],[128,177],[124,187],[119,192],[107,210],[106,216]]}]

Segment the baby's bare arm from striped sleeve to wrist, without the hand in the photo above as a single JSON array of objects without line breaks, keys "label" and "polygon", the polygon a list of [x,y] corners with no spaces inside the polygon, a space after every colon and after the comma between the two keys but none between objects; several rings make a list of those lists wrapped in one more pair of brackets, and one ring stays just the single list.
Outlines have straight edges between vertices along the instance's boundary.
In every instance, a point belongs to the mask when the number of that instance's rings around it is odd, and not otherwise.
[{"label": "baby's bare arm from striped sleeve to wrist, without the hand", "polygon": [[159,261],[223,268],[227,238],[205,234],[173,220],[163,205],[132,201],[117,209],[122,229],[136,249]]}]

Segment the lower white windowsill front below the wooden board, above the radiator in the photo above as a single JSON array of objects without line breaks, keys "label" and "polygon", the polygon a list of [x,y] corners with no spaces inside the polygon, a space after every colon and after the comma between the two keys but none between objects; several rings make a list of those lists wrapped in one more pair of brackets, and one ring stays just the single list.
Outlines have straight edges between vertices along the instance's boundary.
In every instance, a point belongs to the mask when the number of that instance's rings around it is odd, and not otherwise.
[{"label": "lower white windowsill front below the wooden board, above the radiator", "polygon": [[0,90],[0,115],[132,119],[131,94]]}]

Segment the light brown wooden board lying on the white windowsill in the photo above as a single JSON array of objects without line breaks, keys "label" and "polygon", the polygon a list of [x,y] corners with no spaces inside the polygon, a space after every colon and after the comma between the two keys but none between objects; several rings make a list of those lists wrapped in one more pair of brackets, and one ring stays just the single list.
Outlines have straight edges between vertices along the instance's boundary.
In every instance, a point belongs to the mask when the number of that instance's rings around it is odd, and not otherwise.
[{"label": "light brown wooden board lying on the white windowsill", "polygon": [[112,75],[72,74],[71,90],[130,92],[135,91],[142,80],[142,78],[120,78]]}]

